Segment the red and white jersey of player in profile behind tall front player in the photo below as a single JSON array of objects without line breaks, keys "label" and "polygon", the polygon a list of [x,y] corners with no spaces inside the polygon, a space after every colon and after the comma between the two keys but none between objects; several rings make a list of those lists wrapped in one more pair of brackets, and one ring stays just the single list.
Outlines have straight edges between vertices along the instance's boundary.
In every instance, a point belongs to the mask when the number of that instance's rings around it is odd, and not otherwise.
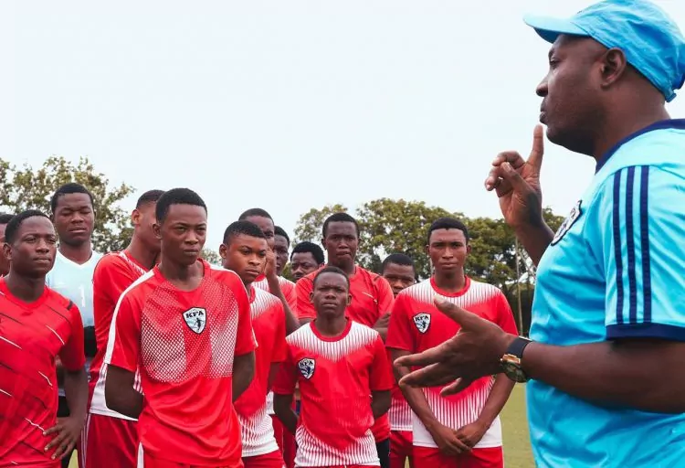
[{"label": "red and white jersey of player in profile behind tall front player", "polygon": [[[93,314],[95,316],[95,339],[98,351],[90,365],[89,401],[90,412],[102,416],[111,416],[122,420],[132,420],[116,411],[107,408],[105,403],[105,379],[107,378],[107,351],[110,336],[111,317],[121,293],[132,285],[147,270],[135,261],[126,251],[108,253],[95,267],[93,272]],[[136,372],[133,387],[142,393],[141,376]]]}]

